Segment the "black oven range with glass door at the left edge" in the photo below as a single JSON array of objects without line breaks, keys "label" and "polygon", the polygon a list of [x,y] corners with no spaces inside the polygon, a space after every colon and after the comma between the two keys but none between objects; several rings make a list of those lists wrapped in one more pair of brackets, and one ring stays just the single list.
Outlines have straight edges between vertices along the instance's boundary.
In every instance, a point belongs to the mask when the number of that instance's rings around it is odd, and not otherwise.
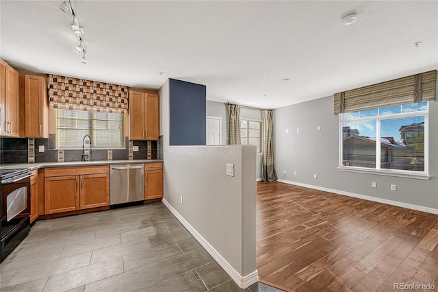
[{"label": "black oven range with glass door at the left edge", "polygon": [[0,262],[30,230],[30,177],[28,169],[0,170]]}]

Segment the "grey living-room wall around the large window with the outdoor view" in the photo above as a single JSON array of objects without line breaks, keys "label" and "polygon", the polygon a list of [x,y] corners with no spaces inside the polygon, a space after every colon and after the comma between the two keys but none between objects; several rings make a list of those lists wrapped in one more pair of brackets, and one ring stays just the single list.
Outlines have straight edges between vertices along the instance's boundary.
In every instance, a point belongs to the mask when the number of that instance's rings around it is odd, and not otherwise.
[{"label": "grey living-room wall around the large window with the outdoor view", "polygon": [[[333,114],[333,96],[275,110],[274,160],[279,179],[438,212],[438,131],[434,127],[438,124],[438,102],[429,106],[429,180],[338,171],[339,118]],[[297,127],[300,132],[296,132]],[[316,180],[314,173],[318,174]],[[372,182],[377,182],[377,188],[372,188]],[[391,191],[390,184],[396,184],[397,191]]]}]

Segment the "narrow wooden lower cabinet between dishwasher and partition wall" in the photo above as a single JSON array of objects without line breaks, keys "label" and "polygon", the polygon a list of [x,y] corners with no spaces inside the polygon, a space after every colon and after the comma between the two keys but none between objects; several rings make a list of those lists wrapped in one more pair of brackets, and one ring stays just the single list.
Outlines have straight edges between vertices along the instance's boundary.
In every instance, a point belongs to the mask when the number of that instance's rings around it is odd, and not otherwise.
[{"label": "narrow wooden lower cabinet between dishwasher and partition wall", "polygon": [[144,165],[144,199],[163,197],[163,164],[146,163]]}]

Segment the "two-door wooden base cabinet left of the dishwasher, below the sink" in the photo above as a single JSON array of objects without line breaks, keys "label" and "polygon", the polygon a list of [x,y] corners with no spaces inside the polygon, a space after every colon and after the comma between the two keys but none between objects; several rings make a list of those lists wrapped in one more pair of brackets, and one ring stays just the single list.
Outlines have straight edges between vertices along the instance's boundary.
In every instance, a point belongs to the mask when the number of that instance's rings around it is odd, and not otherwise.
[{"label": "two-door wooden base cabinet left of the dishwasher, below the sink", "polygon": [[109,167],[46,169],[45,215],[103,206],[110,206]]}]

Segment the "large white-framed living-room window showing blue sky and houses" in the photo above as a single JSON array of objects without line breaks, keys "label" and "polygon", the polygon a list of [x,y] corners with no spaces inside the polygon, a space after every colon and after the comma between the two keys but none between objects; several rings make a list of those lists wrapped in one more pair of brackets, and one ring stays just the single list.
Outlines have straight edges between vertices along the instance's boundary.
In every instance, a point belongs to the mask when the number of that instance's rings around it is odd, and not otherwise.
[{"label": "large white-framed living-room window showing blue sky and houses", "polygon": [[340,114],[339,169],[428,175],[428,101]]}]

